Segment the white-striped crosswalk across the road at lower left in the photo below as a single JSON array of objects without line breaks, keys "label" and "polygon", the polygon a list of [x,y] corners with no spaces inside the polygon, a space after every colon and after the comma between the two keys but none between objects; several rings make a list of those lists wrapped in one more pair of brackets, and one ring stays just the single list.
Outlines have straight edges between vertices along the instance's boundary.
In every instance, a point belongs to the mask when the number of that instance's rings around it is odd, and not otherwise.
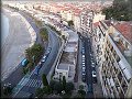
[{"label": "white-striped crosswalk across the road at lower left", "polygon": [[41,87],[42,86],[42,80],[37,80],[37,79],[29,79],[28,84],[24,85],[24,86],[28,86],[28,87]]}]

